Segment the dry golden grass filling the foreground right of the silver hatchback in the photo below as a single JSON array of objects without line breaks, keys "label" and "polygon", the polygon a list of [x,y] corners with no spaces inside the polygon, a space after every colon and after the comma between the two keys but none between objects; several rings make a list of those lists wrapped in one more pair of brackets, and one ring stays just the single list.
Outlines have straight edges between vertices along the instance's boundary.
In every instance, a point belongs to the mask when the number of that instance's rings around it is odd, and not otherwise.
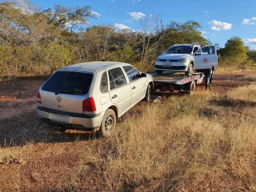
[{"label": "dry golden grass filling the foreground right of the silver hatchback", "polygon": [[[52,180],[52,173],[44,173],[44,187],[35,188],[37,183],[18,169],[10,172],[4,189],[255,191],[253,102],[255,84],[238,87],[226,96],[195,92],[193,96],[171,96],[150,105],[140,103],[118,121],[111,138],[83,140],[77,136],[70,148],[55,155],[76,156],[76,162],[69,162],[73,163],[72,169],[56,180]],[[34,149],[33,143],[1,148],[0,160],[33,156],[33,150],[44,145],[49,144],[39,143]],[[44,154],[40,155],[44,159]],[[31,167],[36,169],[35,164]],[[53,172],[58,173],[55,169]]]}]

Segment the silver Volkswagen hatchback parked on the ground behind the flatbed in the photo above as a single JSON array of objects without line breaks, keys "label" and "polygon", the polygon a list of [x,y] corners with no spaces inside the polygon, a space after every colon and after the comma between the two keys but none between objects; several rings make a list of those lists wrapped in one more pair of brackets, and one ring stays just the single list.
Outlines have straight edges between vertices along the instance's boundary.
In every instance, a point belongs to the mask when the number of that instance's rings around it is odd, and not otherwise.
[{"label": "silver Volkswagen hatchback parked on the ground behind the flatbed", "polygon": [[127,63],[86,62],[61,68],[37,93],[37,113],[57,128],[98,131],[109,137],[122,116],[140,100],[149,101],[154,80]]}]

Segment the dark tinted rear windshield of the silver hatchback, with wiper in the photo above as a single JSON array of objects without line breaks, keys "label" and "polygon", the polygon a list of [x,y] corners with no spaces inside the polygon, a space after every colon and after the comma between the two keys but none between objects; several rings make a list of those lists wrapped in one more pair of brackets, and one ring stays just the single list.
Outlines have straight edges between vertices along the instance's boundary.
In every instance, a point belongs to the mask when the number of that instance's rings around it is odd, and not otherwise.
[{"label": "dark tinted rear windshield of the silver hatchback, with wiper", "polygon": [[57,71],[43,85],[42,90],[72,95],[85,95],[92,83],[91,73]]}]

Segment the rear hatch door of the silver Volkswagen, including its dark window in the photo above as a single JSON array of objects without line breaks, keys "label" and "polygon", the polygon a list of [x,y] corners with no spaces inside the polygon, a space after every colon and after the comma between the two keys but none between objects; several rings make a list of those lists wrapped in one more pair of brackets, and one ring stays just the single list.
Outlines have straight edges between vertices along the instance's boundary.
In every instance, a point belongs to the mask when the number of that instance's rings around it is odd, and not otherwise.
[{"label": "rear hatch door of the silver Volkswagen, including its dark window", "polygon": [[92,72],[57,71],[39,90],[42,106],[83,114],[83,100],[89,98]]}]

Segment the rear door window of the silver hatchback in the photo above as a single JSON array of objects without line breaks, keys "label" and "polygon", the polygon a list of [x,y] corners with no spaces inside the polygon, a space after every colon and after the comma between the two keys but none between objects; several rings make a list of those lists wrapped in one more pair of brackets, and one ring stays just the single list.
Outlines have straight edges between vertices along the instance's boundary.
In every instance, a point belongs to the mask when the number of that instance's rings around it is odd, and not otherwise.
[{"label": "rear door window of the silver hatchback", "polygon": [[108,70],[110,90],[126,84],[124,73],[120,67]]}]

